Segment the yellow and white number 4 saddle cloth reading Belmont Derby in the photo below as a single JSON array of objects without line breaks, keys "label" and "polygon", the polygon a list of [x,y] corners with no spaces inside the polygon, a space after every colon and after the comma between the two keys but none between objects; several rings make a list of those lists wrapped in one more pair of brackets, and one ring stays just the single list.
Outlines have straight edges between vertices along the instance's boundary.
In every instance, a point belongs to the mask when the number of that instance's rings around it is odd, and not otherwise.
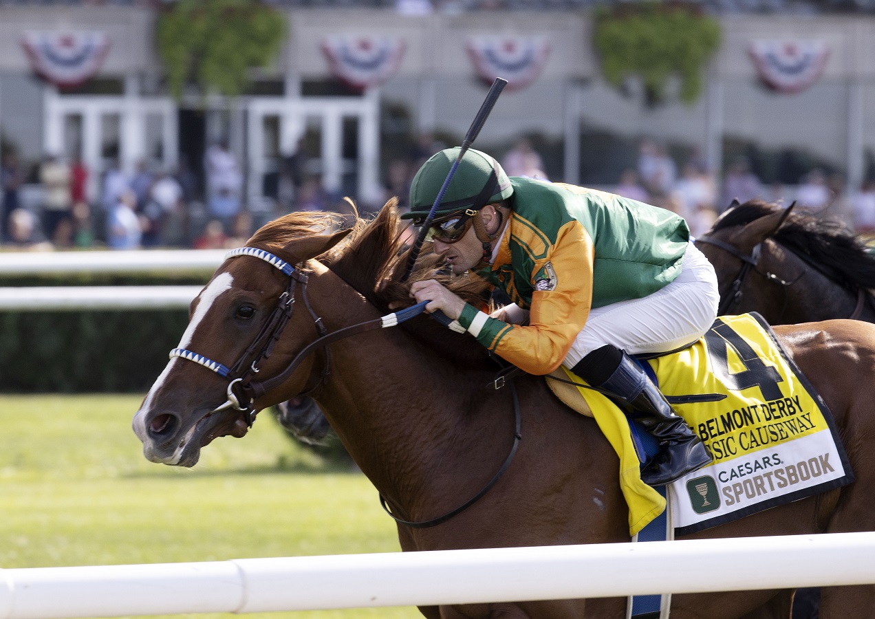
[{"label": "yellow and white number 4 saddle cloth reading Belmont Derby", "polygon": [[[676,535],[854,480],[829,408],[758,314],[721,316],[696,344],[639,363],[714,458],[669,484]],[[665,497],[641,482],[643,443],[652,439],[602,393],[547,382],[560,400],[594,417],[617,451],[629,531],[641,532],[666,509]]]}]

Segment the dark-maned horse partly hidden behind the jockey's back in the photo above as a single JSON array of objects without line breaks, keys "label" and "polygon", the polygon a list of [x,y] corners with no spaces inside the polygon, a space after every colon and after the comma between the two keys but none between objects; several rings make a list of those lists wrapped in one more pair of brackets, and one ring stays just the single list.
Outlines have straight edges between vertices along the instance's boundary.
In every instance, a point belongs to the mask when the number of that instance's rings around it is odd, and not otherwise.
[{"label": "dark-maned horse partly hidden behind the jockey's back", "polygon": [[714,265],[721,315],[769,324],[875,322],[875,254],[844,225],[781,205],[737,202],[696,242]]}]

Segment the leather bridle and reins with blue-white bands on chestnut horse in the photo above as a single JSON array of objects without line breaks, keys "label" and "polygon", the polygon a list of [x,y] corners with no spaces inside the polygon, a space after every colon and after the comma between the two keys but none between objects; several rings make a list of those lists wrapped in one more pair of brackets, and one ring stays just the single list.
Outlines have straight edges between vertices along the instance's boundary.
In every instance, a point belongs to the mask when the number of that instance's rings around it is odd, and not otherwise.
[{"label": "leather bridle and reins with blue-white bands on chestnut horse", "polygon": [[[284,275],[288,275],[289,277],[289,282],[286,285],[286,289],[283,291],[283,294],[279,296],[276,307],[271,312],[270,316],[268,316],[267,321],[265,321],[265,323],[263,324],[262,329],[255,337],[255,340],[253,340],[252,344],[249,344],[246,351],[243,352],[241,357],[238,358],[235,364],[232,365],[230,368],[227,365],[223,365],[210,358],[204,357],[197,352],[189,351],[183,348],[174,348],[170,352],[170,358],[179,357],[187,359],[189,361],[193,361],[194,363],[203,365],[207,369],[216,372],[222,378],[228,379],[228,400],[226,400],[224,404],[215,407],[208,414],[214,414],[218,411],[225,410],[226,408],[233,408],[237,411],[240,411],[244,415],[244,419],[247,421],[250,428],[255,422],[255,416],[258,414],[258,411],[256,411],[254,407],[255,400],[264,395],[264,393],[269,392],[274,387],[279,386],[283,384],[286,380],[288,380],[291,375],[295,373],[297,367],[301,365],[304,359],[308,358],[311,353],[317,351],[318,349],[322,349],[325,354],[325,365],[322,369],[322,373],[318,379],[317,384],[311,387],[311,389],[309,389],[305,393],[301,393],[301,395],[304,396],[313,393],[319,386],[325,384],[331,374],[331,354],[329,349],[327,348],[328,344],[336,342],[340,339],[344,339],[346,337],[358,335],[359,333],[364,333],[365,331],[394,327],[395,325],[409,320],[414,316],[418,316],[423,312],[423,310],[425,310],[425,306],[430,303],[430,301],[416,303],[416,305],[411,305],[409,308],[406,308],[404,310],[399,310],[386,316],[374,318],[374,320],[368,320],[363,323],[353,324],[351,326],[344,327],[343,329],[336,330],[332,333],[328,333],[325,329],[325,325],[322,323],[322,318],[316,315],[316,312],[313,311],[310,305],[310,301],[307,298],[307,283],[309,282],[309,278],[303,272],[300,264],[298,264],[297,267],[292,267],[290,263],[283,261],[280,258],[277,258],[274,254],[270,254],[263,249],[257,249],[255,247],[240,247],[237,249],[233,249],[228,252],[228,254],[226,254],[225,259],[228,260],[230,258],[236,258],[242,255],[252,256],[262,261],[268,262],[271,266],[278,268],[280,271],[283,272]],[[291,318],[291,314],[295,306],[295,294],[298,284],[301,285],[301,296],[304,300],[304,306],[309,311],[310,316],[313,319],[313,323],[315,324],[316,330],[318,332],[318,337],[316,338],[316,340],[311,342],[311,344],[305,346],[302,351],[298,352],[297,356],[291,360],[290,364],[286,366],[283,372],[280,372],[272,379],[253,381],[255,375],[258,374],[258,372],[261,372],[259,364],[261,364],[263,360],[270,357],[270,353],[273,351],[274,344],[276,344],[277,340],[279,340],[279,337],[282,335],[286,323],[288,323]],[[499,389],[500,386],[503,386],[504,384],[505,381],[503,379],[501,380],[500,385],[498,381],[496,381],[495,389]],[[504,475],[505,471],[510,466],[511,461],[513,461],[514,456],[516,455],[516,450],[519,447],[522,438],[520,402],[516,394],[516,386],[514,386],[513,381],[511,381],[510,379],[507,380],[507,384],[511,388],[511,393],[514,401],[514,444],[510,449],[510,453],[507,454],[507,458],[505,458],[504,463],[501,464],[500,469],[495,473],[492,479],[490,479],[489,482],[486,483],[486,486],[482,490],[480,490],[477,494],[468,499],[464,504],[459,505],[456,509],[448,511],[443,516],[440,516],[438,518],[432,518],[430,520],[418,522],[402,520],[401,518],[396,517],[395,514],[389,511],[386,499],[382,495],[380,495],[380,504],[382,505],[382,508],[386,511],[386,513],[388,513],[389,516],[391,516],[395,520],[395,522],[413,528],[425,528],[440,525],[452,518],[453,516],[456,516],[462,511],[465,511],[467,508],[471,507],[472,504],[475,504],[477,501],[479,501],[481,497],[486,495],[486,492],[492,490],[495,483],[497,483],[500,477]],[[235,391],[235,387],[239,390],[239,392]]]}]

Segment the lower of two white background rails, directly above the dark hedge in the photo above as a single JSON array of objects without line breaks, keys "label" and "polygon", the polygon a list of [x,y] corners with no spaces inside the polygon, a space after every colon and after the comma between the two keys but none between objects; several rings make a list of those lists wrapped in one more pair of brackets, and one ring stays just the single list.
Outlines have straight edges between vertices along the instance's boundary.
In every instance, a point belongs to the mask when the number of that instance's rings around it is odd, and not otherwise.
[{"label": "lower of two white background rails, directly above the dark hedge", "polygon": [[0,311],[181,310],[201,286],[28,286],[0,288]]}]

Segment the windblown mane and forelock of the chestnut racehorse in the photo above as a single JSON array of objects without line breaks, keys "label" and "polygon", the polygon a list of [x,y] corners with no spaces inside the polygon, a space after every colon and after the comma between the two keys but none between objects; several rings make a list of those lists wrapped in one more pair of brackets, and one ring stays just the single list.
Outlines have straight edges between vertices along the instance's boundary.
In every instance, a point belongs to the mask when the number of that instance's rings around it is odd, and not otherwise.
[{"label": "windblown mane and forelock of the chestnut racehorse", "polygon": [[[373,219],[353,215],[352,225],[349,216],[336,213],[292,212],[262,226],[247,245],[282,255],[283,247],[294,240],[325,235],[346,227],[352,228],[346,238],[315,258],[378,310],[388,313],[409,307],[414,303],[409,296],[410,284],[425,279],[436,279],[467,303],[485,305],[488,284],[476,276],[445,273],[440,268],[440,256],[431,252],[430,243],[423,245],[421,257],[409,279],[401,281],[409,261],[410,247],[402,234],[396,198],[391,198]],[[472,337],[448,330],[427,316],[416,317],[402,323],[401,327],[431,351],[452,358],[459,366],[482,367],[485,363],[486,349]]]}]

